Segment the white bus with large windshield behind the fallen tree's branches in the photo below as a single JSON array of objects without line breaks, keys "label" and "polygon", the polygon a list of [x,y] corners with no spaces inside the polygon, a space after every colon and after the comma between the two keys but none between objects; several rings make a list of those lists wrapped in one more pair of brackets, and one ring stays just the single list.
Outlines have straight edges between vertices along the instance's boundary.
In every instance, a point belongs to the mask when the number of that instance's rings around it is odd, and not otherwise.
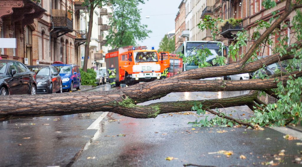
[{"label": "white bus with large windshield behind the fallen tree's branches", "polygon": [[[212,60],[214,58],[216,58],[217,55],[221,56],[221,55],[227,55],[227,49],[222,49],[221,51],[219,51],[220,49],[220,45],[223,46],[222,42],[216,42],[216,41],[184,41],[184,43],[182,43],[181,46],[179,46],[176,51],[175,54],[178,54],[179,52],[181,52],[182,54],[184,54],[185,57],[188,57],[190,55],[195,55],[196,51],[198,49],[202,49],[202,48],[208,48],[210,49],[212,55],[209,55],[206,59],[206,61],[208,63],[210,63],[213,66]],[[172,67],[173,65],[176,66],[178,65],[178,61],[174,61],[176,62],[176,64],[172,63],[173,61],[170,61],[170,67]],[[185,63],[182,65],[182,71],[187,71],[190,69],[195,69],[198,68],[198,65],[195,65],[194,63],[188,64]],[[181,71],[181,72],[182,72]],[[214,77],[214,78],[207,78],[207,80],[212,80],[212,79],[223,79],[223,77]]]}]

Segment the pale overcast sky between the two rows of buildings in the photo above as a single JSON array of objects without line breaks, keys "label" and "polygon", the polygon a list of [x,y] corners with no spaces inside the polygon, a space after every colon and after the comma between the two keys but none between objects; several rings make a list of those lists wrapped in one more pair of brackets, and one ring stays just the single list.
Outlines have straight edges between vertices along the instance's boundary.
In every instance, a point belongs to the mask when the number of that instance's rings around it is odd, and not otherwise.
[{"label": "pale overcast sky between the two rows of buildings", "polygon": [[142,9],[141,23],[148,25],[152,33],[148,39],[137,41],[138,46],[148,46],[148,49],[154,46],[156,50],[158,49],[165,34],[175,29],[175,17],[180,2],[181,0],[145,0],[145,4],[139,6],[139,9]]}]

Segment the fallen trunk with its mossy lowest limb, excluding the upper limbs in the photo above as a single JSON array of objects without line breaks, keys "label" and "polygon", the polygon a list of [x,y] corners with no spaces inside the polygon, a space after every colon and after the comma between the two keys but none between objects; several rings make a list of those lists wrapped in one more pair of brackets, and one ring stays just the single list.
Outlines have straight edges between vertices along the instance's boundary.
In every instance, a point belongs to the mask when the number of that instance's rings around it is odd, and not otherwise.
[{"label": "fallen trunk with its mossy lowest limb, excluding the upper limbs", "polygon": [[[159,102],[147,106],[138,106],[125,94],[114,91],[102,93],[64,93],[52,99],[52,95],[42,96],[11,96],[5,100],[4,108],[0,110],[0,121],[16,118],[29,118],[39,116],[70,115],[86,112],[111,111],[132,118],[155,118],[159,114],[169,112],[191,111],[194,103],[203,104],[209,109],[233,106],[243,106],[257,98],[257,92],[249,94],[209,100],[192,100],[178,102]],[[18,103],[18,106],[15,105]],[[21,106],[19,106],[22,104]]]}]

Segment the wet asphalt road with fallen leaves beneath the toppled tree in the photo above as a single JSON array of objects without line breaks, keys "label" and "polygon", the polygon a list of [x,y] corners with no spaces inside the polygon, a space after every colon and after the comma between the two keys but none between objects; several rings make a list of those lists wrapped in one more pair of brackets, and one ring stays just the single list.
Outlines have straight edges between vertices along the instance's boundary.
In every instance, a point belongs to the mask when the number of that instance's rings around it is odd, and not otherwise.
[{"label": "wet asphalt road with fallen leaves beneath the toppled tree", "polygon": [[[109,89],[106,84],[90,91]],[[246,93],[170,93],[140,105]],[[246,106],[220,111],[241,119],[252,114]],[[302,146],[296,144],[300,140],[285,140],[283,133],[271,128],[264,131],[225,127],[192,129],[187,124],[205,116],[212,117],[211,114],[200,117],[173,113],[155,119],[134,119],[97,112],[4,121],[0,122],[0,166],[263,166],[262,162],[271,160],[279,166],[300,166],[292,162],[301,158]],[[220,150],[233,154],[227,157],[216,153]],[[278,156],[281,150],[285,150],[285,156]],[[246,159],[240,159],[241,155]],[[168,156],[176,159],[167,161]]]}]

